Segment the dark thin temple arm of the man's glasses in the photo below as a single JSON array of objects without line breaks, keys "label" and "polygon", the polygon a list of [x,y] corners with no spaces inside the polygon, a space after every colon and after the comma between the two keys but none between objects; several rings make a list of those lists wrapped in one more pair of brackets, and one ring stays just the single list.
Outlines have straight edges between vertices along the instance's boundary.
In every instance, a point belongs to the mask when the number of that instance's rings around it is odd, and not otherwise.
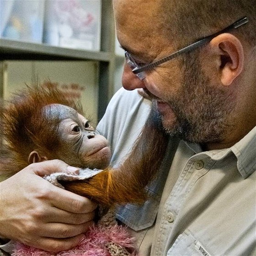
[{"label": "dark thin temple arm of the man's glasses", "polygon": [[229,30],[231,29],[235,29],[235,28],[238,28],[242,25],[244,25],[245,23],[248,22],[248,18],[247,17],[243,17],[241,18],[240,20],[238,21],[235,21],[233,24],[229,25],[228,27],[225,27],[223,30],[219,31],[219,32],[216,32],[210,36],[207,36],[207,37],[203,37],[201,39],[199,39],[197,42],[195,43],[192,43],[191,45],[185,47],[185,48],[182,48],[181,50],[178,50],[177,52],[163,58],[163,59],[159,59],[151,64],[148,64],[148,65],[145,65],[141,68],[134,68],[133,69],[133,74],[138,74],[140,72],[143,72],[145,70],[149,70],[149,69],[152,69],[152,68],[155,68],[156,66],[168,61],[168,60],[171,60],[171,59],[174,59],[176,56],[180,55],[181,53],[186,53],[186,52],[189,52],[191,51],[192,49],[194,48],[197,48],[199,47],[200,45],[203,45],[204,43],[207,43],[209,41],[211,41],[214,37],[217,37],[218,35],[222,34],[222,33],[225,33],[225,32],[228,32]]}]

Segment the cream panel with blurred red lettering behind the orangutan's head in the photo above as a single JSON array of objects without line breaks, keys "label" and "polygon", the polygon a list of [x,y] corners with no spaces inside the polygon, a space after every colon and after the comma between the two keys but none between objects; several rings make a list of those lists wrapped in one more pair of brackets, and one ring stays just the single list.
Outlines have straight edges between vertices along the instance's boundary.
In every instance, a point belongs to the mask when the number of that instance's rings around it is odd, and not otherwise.
[{"label": "cream panel with blurred red lettering behind the orangutan's head", "polygon": [[4,61],[3,98],[27,85],[51,81],[82,103],[85,116],[96,126],[98,109],[98,64],[95,61]]}]

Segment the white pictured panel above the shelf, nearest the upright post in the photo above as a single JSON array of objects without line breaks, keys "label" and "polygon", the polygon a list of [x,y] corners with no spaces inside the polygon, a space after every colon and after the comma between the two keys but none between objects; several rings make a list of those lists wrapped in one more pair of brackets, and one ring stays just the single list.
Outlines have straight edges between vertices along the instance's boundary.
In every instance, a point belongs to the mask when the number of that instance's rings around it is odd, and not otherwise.
[{"label": "white pictured panel above the shelf, nearest the upright post", "polygon": [[51,0],[45,3],[43,43],[100,50],[101,0]]}]

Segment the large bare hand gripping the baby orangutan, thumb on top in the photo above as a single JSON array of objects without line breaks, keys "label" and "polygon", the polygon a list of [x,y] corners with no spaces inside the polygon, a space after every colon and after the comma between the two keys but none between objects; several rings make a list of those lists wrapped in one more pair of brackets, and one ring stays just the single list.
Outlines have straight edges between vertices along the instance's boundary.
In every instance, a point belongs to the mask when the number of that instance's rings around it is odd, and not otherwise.
[{"label": "large bare hand gripping the baby orangutan, thumb on top", "polygon": [[75,171],[60,160],[27,166],[0,183],[0,236],[46,251],[78,245],[96,204],[53,186],[41,176]]}]

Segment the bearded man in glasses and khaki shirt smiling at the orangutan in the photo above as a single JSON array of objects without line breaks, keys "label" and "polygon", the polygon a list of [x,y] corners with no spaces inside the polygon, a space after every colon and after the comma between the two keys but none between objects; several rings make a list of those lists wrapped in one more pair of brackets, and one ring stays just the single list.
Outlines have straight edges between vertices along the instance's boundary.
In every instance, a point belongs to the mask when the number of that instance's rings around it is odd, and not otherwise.
[{"label": "bearded man in glasses and khaki shirt smiling at the orangutan", "polygon": [[[114,0],[114,12],[123,87],[147,93],[170,135],[155,199],[117,219],[140,255],[256,255],[254,1]],[[115,164],[149,106],[124,90],[109,104],[98,129]]]}]

